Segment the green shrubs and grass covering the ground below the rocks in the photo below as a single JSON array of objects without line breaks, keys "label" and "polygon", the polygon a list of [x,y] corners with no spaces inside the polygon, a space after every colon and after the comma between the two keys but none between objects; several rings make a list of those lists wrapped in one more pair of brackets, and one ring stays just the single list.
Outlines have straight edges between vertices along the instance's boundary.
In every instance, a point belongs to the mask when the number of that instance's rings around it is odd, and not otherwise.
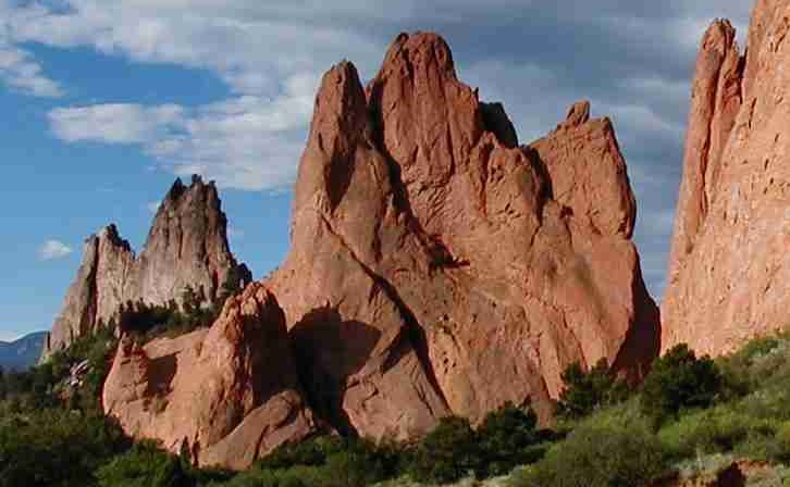
[{"label": "green shrubs and grass covering the ground below the rocks", "polygon": [[[185,298],[177,311],[134,308],[125,320],[138,322],[123,326],[151,337],[202,326],[215,312],[197,305],[198,295]],[[640,387],[605,362],[587,372],[571,365],[555,430],[540,429],[530,409],[506,404],[477,424],[445,417],[416,444],[316,437],[242,473],[197,469],[188,448],[175,455],[134,444],[101,414],[115,345],[107,327],[30,371],[0,371],[0,487],[394,487],[489,485],[476,483],[497,476],[511,487],[626,487],[715,476],[736,459],[774,465],[765,485],[790,485],[787,335],[715,361],[676,347]]]}]

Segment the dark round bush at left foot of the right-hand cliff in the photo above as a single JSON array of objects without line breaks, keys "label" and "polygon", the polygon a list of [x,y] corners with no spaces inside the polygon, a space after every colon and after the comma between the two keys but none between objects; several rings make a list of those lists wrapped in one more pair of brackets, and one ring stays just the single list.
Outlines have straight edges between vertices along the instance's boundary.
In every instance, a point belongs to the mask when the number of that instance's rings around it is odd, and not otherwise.
[{"label": "dark round bush at left foot of the right-hand cliff", "polygon": [[642,412],[655,426],[681,410],[709,408],[723,389],[718,366],[708,357],[698,359],[679,345],[657,359],[642,385]]}]

